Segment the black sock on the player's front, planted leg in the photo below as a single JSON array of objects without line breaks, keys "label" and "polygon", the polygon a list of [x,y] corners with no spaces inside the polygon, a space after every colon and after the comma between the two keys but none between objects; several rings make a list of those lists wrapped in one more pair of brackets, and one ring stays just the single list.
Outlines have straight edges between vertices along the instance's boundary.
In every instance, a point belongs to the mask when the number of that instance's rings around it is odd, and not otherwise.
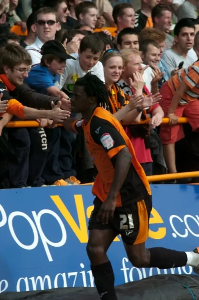
[{"label": "black sock on the player's front, planted leg", "polygon": [[104,262],[98,266],[91,266],[91,271],[101,300],[117,300],[114,288],[115,277],[111,263]]}]

